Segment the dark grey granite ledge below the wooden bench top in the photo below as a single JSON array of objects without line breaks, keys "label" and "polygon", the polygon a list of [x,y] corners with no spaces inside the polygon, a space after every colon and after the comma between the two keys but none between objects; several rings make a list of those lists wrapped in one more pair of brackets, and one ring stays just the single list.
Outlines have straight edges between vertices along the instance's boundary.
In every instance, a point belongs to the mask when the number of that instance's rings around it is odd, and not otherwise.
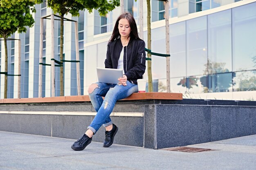
[{"label": "dark grey granite ledge below the wooden bench top", "polygon": [[[78,139],[95,114],[92,104],[84,101],[3,103],[0,104],[0,130]],[[256,102],[120,100],[111,119],[119,127],[115,144],[169,148],[255,135]],[[104,128],[101,127],[93,141],[103,139]]]}]

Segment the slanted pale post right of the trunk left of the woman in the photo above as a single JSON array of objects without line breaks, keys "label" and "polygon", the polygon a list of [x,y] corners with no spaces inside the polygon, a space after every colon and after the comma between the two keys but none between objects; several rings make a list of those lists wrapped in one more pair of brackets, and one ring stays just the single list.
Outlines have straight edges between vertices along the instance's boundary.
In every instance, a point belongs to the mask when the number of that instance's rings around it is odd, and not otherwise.
[{"label": "slanted pale post right of the trunk left of the woman", "polygon": [[[76,42],[76,61],[79,61],[78,23],[77,22],[75,22],[75,42]],[[76,84],[77,84],[77,95],[81,95],[80,62],[76,62]]]}]

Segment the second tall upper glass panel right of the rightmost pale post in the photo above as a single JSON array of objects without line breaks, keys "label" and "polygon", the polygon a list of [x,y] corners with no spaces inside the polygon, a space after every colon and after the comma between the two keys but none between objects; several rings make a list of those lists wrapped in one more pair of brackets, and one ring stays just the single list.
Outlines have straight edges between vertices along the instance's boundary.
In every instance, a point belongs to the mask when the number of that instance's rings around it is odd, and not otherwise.
[{"label": "second tall upper glass panel right of the rightmost pale post", "polygon": [[186,21],[186,74],[203,75],[207,68],[207,16]]}]

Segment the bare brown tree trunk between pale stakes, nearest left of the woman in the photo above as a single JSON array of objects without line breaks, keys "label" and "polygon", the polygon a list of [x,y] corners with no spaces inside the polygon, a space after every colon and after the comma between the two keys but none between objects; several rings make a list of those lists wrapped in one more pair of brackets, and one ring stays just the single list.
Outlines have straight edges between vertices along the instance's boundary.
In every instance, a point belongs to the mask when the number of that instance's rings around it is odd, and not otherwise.
[{"label": "bare brown tree trunk between pale stakes, nearest left of the woman", "polygon": [[[60,41],[60,61],[63,60],[63,17],[64,15],[61,15],[61,41]],[[64,96],[64,88],[63,88],[63,66],[60,67],[60,96]]]}]

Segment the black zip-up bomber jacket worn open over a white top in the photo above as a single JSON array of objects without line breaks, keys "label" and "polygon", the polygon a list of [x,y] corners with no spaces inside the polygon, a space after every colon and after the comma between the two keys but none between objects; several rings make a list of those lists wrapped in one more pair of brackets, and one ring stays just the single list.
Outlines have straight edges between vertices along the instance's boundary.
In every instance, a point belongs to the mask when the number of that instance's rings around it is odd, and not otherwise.
[{"label": "black zip-up bomber jacket worn open over a white top", "polygon": [[[117,68],[122,51],[120,38],[108,43],[105,68]],[[142,79],[146,69],[145,42],[140,39],[130,40],[124,47],[124,73],[127,80],[137,84],[137,79]]]}]

